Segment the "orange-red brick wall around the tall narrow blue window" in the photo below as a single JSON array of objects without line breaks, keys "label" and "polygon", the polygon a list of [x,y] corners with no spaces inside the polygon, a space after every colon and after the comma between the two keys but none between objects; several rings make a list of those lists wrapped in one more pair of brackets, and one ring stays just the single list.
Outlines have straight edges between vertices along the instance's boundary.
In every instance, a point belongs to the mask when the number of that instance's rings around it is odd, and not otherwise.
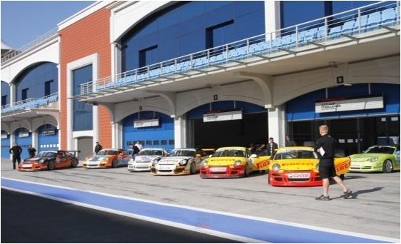
[{"label": "orange-red brick wall around the tall narrow blue window", "polygon": [[[103,8],[59,31],[60,34],[60,129],[61,148],[67,146],[67,64],[98,54],[98,78],[111,76],[110,11]],[[111,147],[111,116],[98,106],[98,141]]]}]

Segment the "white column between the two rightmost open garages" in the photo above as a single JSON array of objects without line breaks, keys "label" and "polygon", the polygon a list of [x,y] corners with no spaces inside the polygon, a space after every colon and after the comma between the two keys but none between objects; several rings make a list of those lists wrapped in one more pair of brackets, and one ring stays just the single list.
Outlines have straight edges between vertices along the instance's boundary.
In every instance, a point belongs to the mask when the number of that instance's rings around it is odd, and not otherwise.
[{"label": "white column between the two rightmost open garages", "polygon": [[279,147],[285,146],[285,110],[284,106],[269,108],[269,135]]}]

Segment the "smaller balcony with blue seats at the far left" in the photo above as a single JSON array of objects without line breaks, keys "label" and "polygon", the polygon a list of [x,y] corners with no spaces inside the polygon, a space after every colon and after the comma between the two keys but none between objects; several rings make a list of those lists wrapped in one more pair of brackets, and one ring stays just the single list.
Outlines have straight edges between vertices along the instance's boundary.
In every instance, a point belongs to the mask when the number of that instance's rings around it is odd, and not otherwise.
[{"label": "smaller balcony with blue seats at the far left", "polygon": [[34,118],[50,111],[59,111],[59,93],[53,93],[42,98],[28,98],[1,106],[1,121]]}]

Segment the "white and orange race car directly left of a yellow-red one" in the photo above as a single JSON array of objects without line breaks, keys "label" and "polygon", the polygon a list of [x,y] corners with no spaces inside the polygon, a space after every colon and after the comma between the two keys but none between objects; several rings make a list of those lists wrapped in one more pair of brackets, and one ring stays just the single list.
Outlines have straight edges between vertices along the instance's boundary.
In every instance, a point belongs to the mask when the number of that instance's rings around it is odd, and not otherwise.
[{"label": "white and orange race car directly left of a yellow-red one", "polygon": [[174,149],[160,159],[152,161],[153,175],[189,175],[199,171],[200,154],[195,148]]}]

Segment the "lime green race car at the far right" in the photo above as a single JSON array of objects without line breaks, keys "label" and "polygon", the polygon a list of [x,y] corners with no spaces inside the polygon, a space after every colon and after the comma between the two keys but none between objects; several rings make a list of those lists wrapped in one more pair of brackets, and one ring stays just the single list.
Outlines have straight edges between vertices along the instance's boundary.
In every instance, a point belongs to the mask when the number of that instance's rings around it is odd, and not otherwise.
[{"label": "lime green race car at the far right", "polygon": [[400,170],[400,146],[370,146],[363,153],[352,154],[349,172],[390,173]]}]

